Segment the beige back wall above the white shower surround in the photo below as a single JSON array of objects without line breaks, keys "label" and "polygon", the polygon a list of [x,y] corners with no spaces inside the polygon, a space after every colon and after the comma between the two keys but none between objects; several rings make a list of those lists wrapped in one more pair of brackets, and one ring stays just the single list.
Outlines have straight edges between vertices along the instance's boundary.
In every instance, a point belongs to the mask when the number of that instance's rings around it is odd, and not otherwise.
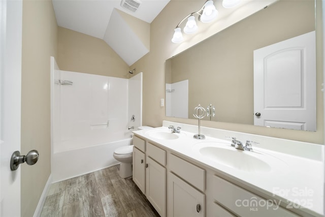
[{"label": "beige back wall above the white shower surround", "polygon": [[60,70],[129,78],[129,67],[102,39],[58,27]]}]

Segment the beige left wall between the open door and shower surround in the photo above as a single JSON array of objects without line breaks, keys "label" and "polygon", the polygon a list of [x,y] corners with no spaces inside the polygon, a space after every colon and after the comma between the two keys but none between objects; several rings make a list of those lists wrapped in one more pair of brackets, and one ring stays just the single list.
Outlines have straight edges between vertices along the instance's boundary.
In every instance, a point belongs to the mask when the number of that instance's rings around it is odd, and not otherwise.
[{"label": "beige left wall between the open door and shower surround", "polygon": [[21,215],[32,216],[51,173],[50,56],[57,55],[52,2],[23,1],[21,153],[37,149],[37,164],[21,165]]}]

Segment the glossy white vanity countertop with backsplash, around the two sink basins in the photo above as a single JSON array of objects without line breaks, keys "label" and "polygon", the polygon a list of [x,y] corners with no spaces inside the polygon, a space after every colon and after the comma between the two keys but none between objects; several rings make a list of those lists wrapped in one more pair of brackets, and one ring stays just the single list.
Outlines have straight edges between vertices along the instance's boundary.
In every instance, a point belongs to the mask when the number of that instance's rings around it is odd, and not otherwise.
[{"label": "glossy white vanity countertop with backsplash, around the two sink basins", "polygon": [[[178,123],[164,121],[164,126],[170,125],[173,123],[176,127]],[[236,138],[240,138],[246,136],[247,138],[253,137],[256,141],[263,141],[264,144],[254,146],[253,152],[245,151],[245,154],[252,154],[252,156],[257,158],[262,158],[262,160],[266,161],[271,165],[271,170],[269,171],[258,171],[258,172],[247,172],[242,171],[236,168],[232,168],[228,165],[220,164],[216,161],[213,161],[209,158],[204,157],[199,151],[198,146],[204,145],[203,143],[207,142],[220,142],[223,144],[219,144],[220,146],[224,145],[223,148],[231,148],[231,140],[223,139],[224,136],[222,134],[232,134],[229,136],[233,136],[234,132],[232,131],[220,131],[218,129],[212,128],[203,128],[203,132],[201,130],[201,134],[204,132],[209,132],[209,134],[215,131],[215,135],[219,136],[207,136],[204,140],[193,139],[193,135],[197,133],[192,133],[192,127],[197,126],[189,126],[184,124],[179,124],[182,126],[181,133],[178,134],[178,139],[156,139],[152,138],[148,135],[149,131],[152,130],[162,130],[162,131],[170,131],[167,127],[154,128],[151,130],[142,130],[142,131],[134,131],[135,135],[146,138],[149,141],[158,143],[162,146],[165,146],[167,149],[170,149],[174,152],[181,154],[187,158],[190,158],[202,165],[213,169],[223,175],[228,176],[229,178],[239,181],[248,187],[254,188],[263,194],[269,195],[270,197],[274,197],[278,200],[286,202],[289,206],[293,206],[295,208],[300,208],[305,212],[308,212],[312,215],[323,216],[323,186],[324,186],[324,169],[323,169],[323,154],[315,154],[316,157],[313,159],[312,154],[307,154],[307,157],[304,156],[304,152],[319,152],[323,151],[323,145],[295,142],[290,140],[283,140],[277,138],[271,138],[270,141],[273,143],[288,143],[288,145],[295,145],[293,147],[284,147],[282,144],[283,150],[288,152],[290,148],[297,149],[300,148],[314,148],[314,150],[299,150],[299,152],[293,151],[298,154],[288,154],[283,153],[281,150],[276,151],[272,150],[273,148],[265,148],[268,143],[267,137],[258,138],[257,135],[236,134]],[[188,130],[188,131],[186,131]],[[214,134],[214,133],[212,133]],[[243,134],[243,135],[241,135]],[[222,138],[222,139],[219,139]],[[251,139],[251,140],[253,140]],[[202,142],[202,143],[201,143]],[[245,142],[242,140],[242,142]],[[201,143],[198,145],[198,143]],[[297,144],[296,144],[297,143]],[[308,146],[309,145],[309,146]],[[276,145],[274,145],[276,146]],[[235,149],[238,150],[238,149]],[[241,151],[241,150],[238,150]]]}]

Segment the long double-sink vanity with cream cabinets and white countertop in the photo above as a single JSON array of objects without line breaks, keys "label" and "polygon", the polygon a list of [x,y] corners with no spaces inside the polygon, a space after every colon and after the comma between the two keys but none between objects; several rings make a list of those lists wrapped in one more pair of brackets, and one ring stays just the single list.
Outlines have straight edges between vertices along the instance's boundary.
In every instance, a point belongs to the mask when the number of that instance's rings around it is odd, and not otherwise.
[{"label": "long double-sink vanity with cream cabinets and white countertop", "polygon": [[[205,127],[206,139],[197,140],[196,133],[170,121],[134,131],[133,180],[161,216],[323,215],[322,145]],[[259,144],[238,150],[225,137]]]}]

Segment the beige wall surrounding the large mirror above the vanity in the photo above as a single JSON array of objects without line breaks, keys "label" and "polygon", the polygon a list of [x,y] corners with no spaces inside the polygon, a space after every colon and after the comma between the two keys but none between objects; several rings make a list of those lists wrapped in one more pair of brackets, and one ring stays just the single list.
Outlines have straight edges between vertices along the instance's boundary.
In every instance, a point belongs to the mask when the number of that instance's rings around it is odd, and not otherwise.
[{"label": "beige wall surrounding the large mirror above the vanity", "polygon": [[[317,1],[317,11],[319,10],[320,1]],[[200,5],[200,6],[199,6]],[[141,58],[131,68],[137,68],[138,72],[143,72],[143,125],[153,127],[161,126],[163,120],[177,121],[182,123],[190,123],[197,125],[198,121],[194,119],[172,118],[165,116],[165,107],[160,107],[159,99],[165,98],[165,65],[166,59],[179,53],[180,51],[192,46],[193,41],[200,41],[199,38],[205,39],[211,36],[211,28],[206,24],[199,23],[201,30],[192,38],[185,38],[181,44],[173,44],[171,38],[173,29],[177,23],[187,15],[187,12],[196,11],[202,3],[198,1],[176,1],[172,0],[164,10],[156,17],[150,26],[150,53]],[[187,12],[186,12],[187,11]],[[183,12],[183,13],[180,13]],[[316,23],[321,18],[320,13],[317,14]],[[225,19],[222,22],[226,21]],[[222,25],[222,22],[210,24],[210,26]],[[208,24],[209,25],[209,24]],[[320,25],[319,25],[320,26]],[[317,29],[319,29],[317,26]],[[205,29],[207,29],[205,31]],[[320,31],[316,33],[317,43],[317,72],[322,71],[321,61],[321,35]],[[321,78],[317,77],[317,100],[321,99],[320,89]],[[322,102],[322,101],[319,101]],[[239,131],[244,133],[258,134],[264,136],[272,136],[277,138],[292,139],[298,141],[323,143],[323,105],[317,104],[317,132],[305,132],[296,130],[284,130],[275,128],[256,127],[251,125],[243,125],[236,123],[225,123],[217,121],[202,121],[203,126],[219,128],[224,130]]]}]

